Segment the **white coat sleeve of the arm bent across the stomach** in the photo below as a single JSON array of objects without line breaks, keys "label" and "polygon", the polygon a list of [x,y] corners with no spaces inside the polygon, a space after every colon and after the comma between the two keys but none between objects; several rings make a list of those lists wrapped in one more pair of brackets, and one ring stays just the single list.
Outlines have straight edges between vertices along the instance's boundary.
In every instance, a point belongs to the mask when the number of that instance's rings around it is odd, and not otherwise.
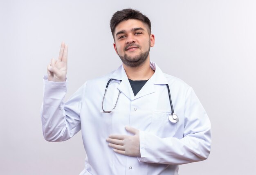
[{"label": "white coat sleeve of the arm bent across the stomach", "polygon": [[211,149],[211,123],[192,88],[186,93],[184,137],[160,138],[140,131],[140,162],[187,164],[207,159]]}]

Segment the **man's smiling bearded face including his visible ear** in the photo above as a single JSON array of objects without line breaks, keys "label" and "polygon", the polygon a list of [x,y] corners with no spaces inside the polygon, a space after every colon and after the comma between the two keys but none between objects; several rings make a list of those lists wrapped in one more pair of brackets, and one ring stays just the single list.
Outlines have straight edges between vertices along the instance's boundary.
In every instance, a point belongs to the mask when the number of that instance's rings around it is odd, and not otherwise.
[{"label": "man's smiling bearded face including his visible ear", "polygon": [[114,48],[123,63],[138,67],[149,59],[150,47],[155,44],[155,36],[149,34],[146,24],[130,19],[120,22],[115,28]]}]

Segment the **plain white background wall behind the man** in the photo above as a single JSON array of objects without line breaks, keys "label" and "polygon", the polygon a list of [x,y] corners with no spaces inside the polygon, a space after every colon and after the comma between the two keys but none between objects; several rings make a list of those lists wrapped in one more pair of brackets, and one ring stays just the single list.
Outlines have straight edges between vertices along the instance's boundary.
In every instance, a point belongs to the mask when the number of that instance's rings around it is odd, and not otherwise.
[{"label": "plain white background wall behind the man", "polygon": [[181,165],[180,175],[255,175],[254,0],[0,0],[0,174],[82,171],[81,132],[60,143],[43,139],[43,75],[61,41],[69,45],[67,98],[115,70],[121,61],[109,21],[128,7],[152,22],[151,61],[191,85],[211,120],[209,159]]}]

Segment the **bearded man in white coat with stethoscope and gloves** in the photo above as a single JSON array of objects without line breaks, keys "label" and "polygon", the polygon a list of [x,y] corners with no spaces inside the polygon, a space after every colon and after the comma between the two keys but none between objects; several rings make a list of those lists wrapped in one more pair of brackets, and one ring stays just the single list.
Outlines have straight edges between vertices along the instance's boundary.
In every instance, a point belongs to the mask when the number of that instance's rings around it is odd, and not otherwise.
[{"label": "bearded man in white coat with stethoscope and gloves", "polygon": [[112,16],[110,28],[123,64],[87,81],[66,103],[65,43],[58,61],[48,65],[41,112],[45,139],[64,141],[81,130],[87,153],[81,175],[177,175],[179,164],[207,159],[209,118],[189,85],[150,62],[150,20],[123,9]]}]

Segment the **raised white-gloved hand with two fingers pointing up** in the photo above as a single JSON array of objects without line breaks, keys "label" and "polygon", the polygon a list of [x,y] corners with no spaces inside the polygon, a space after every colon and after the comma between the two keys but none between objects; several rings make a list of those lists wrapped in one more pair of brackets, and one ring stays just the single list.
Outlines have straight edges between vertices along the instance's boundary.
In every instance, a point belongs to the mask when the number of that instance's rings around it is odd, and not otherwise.
[{"label": "raised white-gloved hand with two fingers pointing up", "polygon": [[58,60],[51,59],[51,63],[47,66],[47,74],[49,81],[66,81],[67,75],[67,50],[68,46],[64,42],[61,43],[60,54]]}]

